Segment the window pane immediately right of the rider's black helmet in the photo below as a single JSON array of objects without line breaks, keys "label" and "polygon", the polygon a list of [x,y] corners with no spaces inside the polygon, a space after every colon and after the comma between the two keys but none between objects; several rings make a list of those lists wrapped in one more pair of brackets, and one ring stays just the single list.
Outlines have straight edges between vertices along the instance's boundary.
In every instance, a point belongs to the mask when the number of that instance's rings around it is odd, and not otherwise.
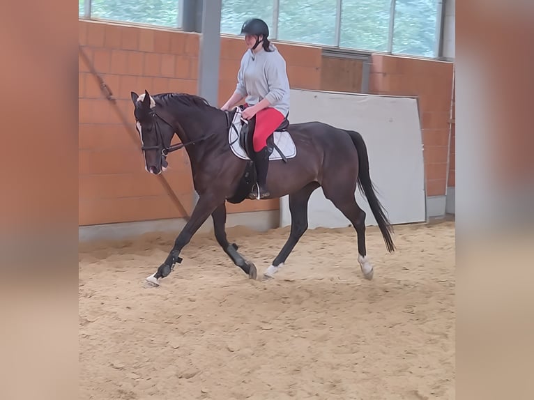
[{"label": "window pane immediately right of the rider's black helmet", "polygon": [[336,0],[280,0],[277,39],[335,45]]}]

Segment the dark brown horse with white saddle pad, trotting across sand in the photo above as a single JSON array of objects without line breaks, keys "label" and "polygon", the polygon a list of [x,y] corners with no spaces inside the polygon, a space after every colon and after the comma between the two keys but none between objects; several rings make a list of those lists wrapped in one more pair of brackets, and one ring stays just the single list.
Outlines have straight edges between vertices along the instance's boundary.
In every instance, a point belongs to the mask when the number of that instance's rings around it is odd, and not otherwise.
[{"label": "dark brown horse with white saddle pad, trotting across sand", "polygon": [[[226,202],[240,203],[254,192],[252,187],[256,176],[252,153],[248,150],[252,147],[252,135],[247,132],[254,117],[250,121],[241,118],[241,128],[236,131],[238,134],[234,132],[234,139],[230,141],[229,132],[232,128],[236,130],[236,122],[240,122],[237,116],[243,106],[222,110],[189,93],[151,95],[145,90],[138,95],[132,91],[131,98],[146,171],[162,174],[168,167],[169,152],[185,148],[190,159],[194,190],[198,194],[194,210],[176,237],[169,255],[155,273],[146,277],[146,281],[160,285],[160,279],[167,277],[176,263],[182,262],[182,249],[210,216],[220,247],[245,274],[257,279],[256,266],[238,252],[236,243],[229,243],[225,231]],[[369,175],[369,157],[363,137],[356,131],[335,128],[326,123],[292,124],[287,118],[268,140],[271,154],[267,185],[270,190],[268,199],[289,195],[291,229],[289,238],[264,272],[264,277],[274,277],[307,231],[308,201],[312,192],[322,187],[325,197],[356,230],[360,270],[365,279],[372,279],[373,266],[365,248],[366,215],[356,203],[357,187],[369,203],[388,252],[395,252],[395,244],[392,225],[376,197]],[[174,134],[181,143],[171,145]],[[278,135],[277,140],[273,139],[274,134]],[[287,156],[280,151],[283,140],[293,144],[293,150],[296,150],[293,154]],[[236,155],[235,146],[245,152],[244,157],[243,154],[241,157]],[[275,148],[277,152],[273,151]],[[275,157],[277,153],[280,153],[279,157]]]}]

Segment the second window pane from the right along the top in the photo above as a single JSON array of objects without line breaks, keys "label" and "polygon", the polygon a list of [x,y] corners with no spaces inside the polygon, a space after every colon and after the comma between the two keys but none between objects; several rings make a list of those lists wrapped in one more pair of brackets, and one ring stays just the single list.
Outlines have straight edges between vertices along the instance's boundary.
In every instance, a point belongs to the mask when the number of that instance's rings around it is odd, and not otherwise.
[{"label": "second window pane from the right along the top", "polygon": [[344,0],[340,46],[388,51],[391,0]]}]

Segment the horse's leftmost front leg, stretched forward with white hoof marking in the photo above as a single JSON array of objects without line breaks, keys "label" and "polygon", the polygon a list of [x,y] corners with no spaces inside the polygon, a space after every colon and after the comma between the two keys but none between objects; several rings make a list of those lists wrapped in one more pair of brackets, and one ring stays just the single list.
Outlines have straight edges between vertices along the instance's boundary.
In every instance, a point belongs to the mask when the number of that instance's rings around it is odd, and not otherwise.
[{"label": "horse's leftmost front leg, stretched forward with white hoof marking", "polygon": [[167,277],[174,270],[174,265],[182,262],[179,255],[183,247],[190,242],[194,233],[206,222],[210,214],[213,213],[213,210],[219,204],[220,199],[210,194],[199,197],[199,201],[197,206],[194,207],[190,220],[185,224],[176,240],[174,240],[174,247],[169,252],[169,256],[167,256],[167,259],[165,259],[165,262],[162,263],[155,274],[146,278],[148,282],[159,286],[158,279]]}]

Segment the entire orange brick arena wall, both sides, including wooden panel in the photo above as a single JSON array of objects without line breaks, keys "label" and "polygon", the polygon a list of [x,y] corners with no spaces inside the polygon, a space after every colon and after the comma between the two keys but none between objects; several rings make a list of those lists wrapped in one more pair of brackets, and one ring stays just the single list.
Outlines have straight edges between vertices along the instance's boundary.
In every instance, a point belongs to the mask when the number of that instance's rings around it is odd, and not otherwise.
[{"label": "entire orange brick arena wall, both sides, including wooden panel", "polygon": [[[197,93],[199,34],[79,20],[79,44],[132,118],[130,91]],[[359,92],[363,63],[323,56],[320,47],[277,43],[287,60],[293,89]],[[222,37],[219,105],[234,91],[243,43]],[[454,186],[454,163],[447,169],[452,63],[373,54],[369,93],[418,95],[425,144],[427,195],[443,197],[445,181]],[[133,119],[129,129],[134,129]],[[144,171],[139,144],[103,98],[98,81],[79,59],[79,226],[130,226],[179,229],[182,215],[157,179]],[[454,141],[452,141],[454,145]],[[454,154],[454,153],[451,153]],[[169,155],[166,177],[188,213],[194,190],[187,154]],[[441,205],[441,203],[439,203]],[[228,206],[229,224],[277,226],[279,201],[244,201]],[[259,212],[259,214],[257,213]],[[434,206],[434,214],[441,208]],[[264,222],[257,222],[262,216]],[[253,217],[253,218],[252,218]],[[178,219],[178,220],[176,220]],[[254,222],[252,222],[254,220]],[[86,230],[86,232],[89,232]],[[91,235],[89,235],[91,236]],[[89,237],[87,236],[87,237]]]}]

